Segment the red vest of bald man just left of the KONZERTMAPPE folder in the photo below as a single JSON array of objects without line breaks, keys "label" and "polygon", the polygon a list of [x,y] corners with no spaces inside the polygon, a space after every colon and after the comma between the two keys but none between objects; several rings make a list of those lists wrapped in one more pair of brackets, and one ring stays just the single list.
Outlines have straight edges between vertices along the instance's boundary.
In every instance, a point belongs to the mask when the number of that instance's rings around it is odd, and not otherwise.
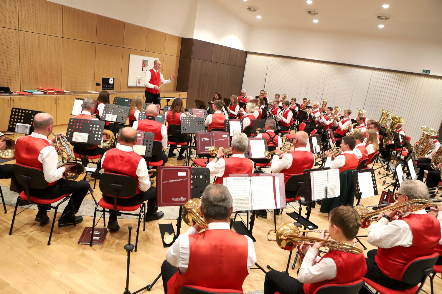
[{"label": "red vest of bald man just left of the KONZERTMAPPE folder", "polygon": [[140,193],[140,188],[138,188],[137,168],[141,158],[143,158],[141,155],[133,151],[126,152],[118,148],[113,148],[106,152],[106,156],[104,156],[105,160],[103,160],[101,167],[103,167],[104,172],[110,172],[118,175],[128,175],[135,179],[135,181],[137,181],[138,194]]}]

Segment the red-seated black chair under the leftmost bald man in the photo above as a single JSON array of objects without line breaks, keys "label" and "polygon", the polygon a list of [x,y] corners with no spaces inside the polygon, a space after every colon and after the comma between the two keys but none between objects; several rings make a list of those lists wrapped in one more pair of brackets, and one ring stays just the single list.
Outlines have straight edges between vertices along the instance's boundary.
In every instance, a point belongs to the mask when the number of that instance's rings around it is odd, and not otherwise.
[{"label": "red-seated black chair under the leftmost bald man", "polygon": [[[54,199],[42,199],[42,198],[34,197],[34,196],[30,195],[29,188],[45,189],[48,187],[48,182],[46,182],[46,180],[45,180],[45,175],[43,174],[43,170],[41,170],[39,168],[35,168],[35,167],[26,166],[23,164],[14,164],[14,174],[15,174],[15,178],[20,183],[20,185],[25,187],[25,190],[22,191],[22,193],[20,193],[19,197],[17,197],[17,202],[15,203],[14,216],[12,216],[12,223],[11,223],[11,229],[9,230],[9,234],[10,235],[12,234],[12,227],[14,227],[15,216],[17,216],[18,214],[20,214],[21,212],[23,212],[24,210],[29,208],[30,205],[32,205],[32,204],[41,205],[41,206],[55,210],[53,220],[52,220],[51,232],[49,234],[49,240],[48,240],[48,245],[50,245],[51,238],[52,238],[52,232],[54,229],[54,224],[56,221],[59,220],[59,219],[55,220],[57,218],[58,206],[60,206],[60,204],[65,202],[66,200],[71,199],[71,197],[69,196],[70,193],[65,194],[65,195],[61,195],[61,196],[54,198]],[[28,195],[30,197],[28,197]],[[22,199],[24,201],[28,201],[28,203],[30,205],[27,208],[23,209],[21,212],[17,213],[17,207],[19,205],[20,199]],[[58,203],[57,206],[53,207],[51,205],[52,203],[55,203],[61,199],[63,199],[63,200],[60,201],[60,203]],[[72,201],[70,201],[70,203],[72,205],[71,209],[72,209],[72,216],[74,217],[74,226],[76,226],[75,214],[73,213],[74,212],[74,205],[73,205]]]}]

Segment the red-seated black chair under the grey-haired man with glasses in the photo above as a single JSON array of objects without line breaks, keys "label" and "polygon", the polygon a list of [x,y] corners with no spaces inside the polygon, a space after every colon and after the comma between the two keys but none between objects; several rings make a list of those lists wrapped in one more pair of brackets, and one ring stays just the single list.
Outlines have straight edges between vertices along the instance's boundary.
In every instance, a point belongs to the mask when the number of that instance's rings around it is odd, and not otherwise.
[{"label": "red-seated black chair under the grey-haired man with glasses", "polygon": [[[362,277],[362,279],[365,283],[369,284],[370,287],[382,294],[418,294],[425,284],[427,276],[433,272],[433,267],[438,257],[438,253],[433,253],[429,256],[415,258],[405,266],[404,270],[402,270],[402,280],[409,284],[420,283],[420,286],[415,286],[411,289],[401,291],[391,290],[365,277]],[[365,285],[363,287],[368,289]]]}]

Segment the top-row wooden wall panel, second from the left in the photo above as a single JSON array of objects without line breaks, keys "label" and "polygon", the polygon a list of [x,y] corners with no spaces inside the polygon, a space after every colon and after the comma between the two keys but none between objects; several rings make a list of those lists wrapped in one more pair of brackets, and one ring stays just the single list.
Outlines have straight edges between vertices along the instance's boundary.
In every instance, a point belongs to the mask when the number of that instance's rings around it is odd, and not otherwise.
[{"label": "top-row wooden wall panel, second from the left", "polygon": [[18,0],[19,30],[62,36],[63,5],[45,0]]}]

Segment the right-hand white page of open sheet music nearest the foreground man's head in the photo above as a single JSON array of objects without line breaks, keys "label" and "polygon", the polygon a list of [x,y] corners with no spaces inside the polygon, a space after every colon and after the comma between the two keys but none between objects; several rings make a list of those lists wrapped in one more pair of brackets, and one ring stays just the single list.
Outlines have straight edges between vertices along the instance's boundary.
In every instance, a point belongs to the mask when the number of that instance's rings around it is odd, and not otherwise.
[{"label": "right-hand white page of open sheet music nearest the foreground man's head", "polygon": [[276,208],[273,177],[251,177],[251,190],[253,210]]}]

